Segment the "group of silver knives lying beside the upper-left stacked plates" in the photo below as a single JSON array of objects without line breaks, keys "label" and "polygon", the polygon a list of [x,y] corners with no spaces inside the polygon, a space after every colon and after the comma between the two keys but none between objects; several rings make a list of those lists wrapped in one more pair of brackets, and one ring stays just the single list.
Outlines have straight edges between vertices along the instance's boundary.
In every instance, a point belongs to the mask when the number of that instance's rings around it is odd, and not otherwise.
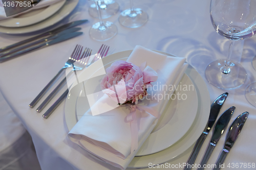
[{"label": "group of silver knives lying beside the upper-left stacked plates", "polygon": [[34,50],[37,50],[38,48],[53,45],[58,42],[62,42],[70,38],[79,36],[82,34],[82,32],[77,31],[81,30],[81,28],[73,27],[78,26],[86,21],[88,20],[78,20],[70,22],[52,31],[42,33],[40,35],[14,43],[9,46],[2,47],[0,48],[0,62],[13,59],[28,52],[32,52]]}]

